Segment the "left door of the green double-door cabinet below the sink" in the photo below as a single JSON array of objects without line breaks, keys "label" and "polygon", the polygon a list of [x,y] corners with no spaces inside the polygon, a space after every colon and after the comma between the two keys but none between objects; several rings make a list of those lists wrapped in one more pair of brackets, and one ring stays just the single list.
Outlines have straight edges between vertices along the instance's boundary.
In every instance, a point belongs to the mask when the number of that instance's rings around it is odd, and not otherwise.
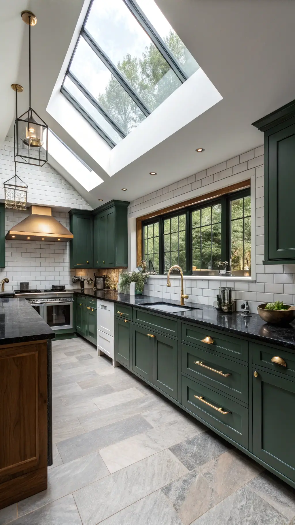
[{"label": "left door of the green double-door cabinet below the sink", "polygon": [[152,361],[154,334],[133,323],[132,327],[132,370],[152,383]]}]

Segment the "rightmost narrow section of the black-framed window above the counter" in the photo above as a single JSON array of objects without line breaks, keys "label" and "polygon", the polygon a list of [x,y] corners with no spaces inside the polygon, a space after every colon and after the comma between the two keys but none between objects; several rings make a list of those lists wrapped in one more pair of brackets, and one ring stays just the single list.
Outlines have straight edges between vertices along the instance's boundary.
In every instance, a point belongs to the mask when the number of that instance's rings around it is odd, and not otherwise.
[{"label": "rightmost narrow section of the black-framed window above the counter", "polygon": [[231,198],[232,270],[251,269],[251,197]]}]

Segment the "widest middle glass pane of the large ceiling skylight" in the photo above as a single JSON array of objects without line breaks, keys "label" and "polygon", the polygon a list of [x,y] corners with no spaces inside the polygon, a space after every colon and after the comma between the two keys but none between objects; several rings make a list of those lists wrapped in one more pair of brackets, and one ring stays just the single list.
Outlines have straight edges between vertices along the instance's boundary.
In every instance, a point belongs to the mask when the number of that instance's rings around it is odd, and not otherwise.
[{"label": "widest middle glass pane of the large ceiling skylight", "polygon": [[181,85],[123,0],[94,0],[85,28],[150,111]]}]

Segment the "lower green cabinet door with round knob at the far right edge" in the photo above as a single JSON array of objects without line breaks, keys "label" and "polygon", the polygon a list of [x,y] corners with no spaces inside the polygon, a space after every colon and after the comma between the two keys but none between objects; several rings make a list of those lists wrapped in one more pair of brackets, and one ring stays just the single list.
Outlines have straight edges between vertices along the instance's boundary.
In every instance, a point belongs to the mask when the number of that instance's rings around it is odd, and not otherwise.
[{"label": "lower green cabinet door with round knob at the far right edge", "polygon": [[253,454],[292,481],[294,435],[295,382],[253,369]]}]

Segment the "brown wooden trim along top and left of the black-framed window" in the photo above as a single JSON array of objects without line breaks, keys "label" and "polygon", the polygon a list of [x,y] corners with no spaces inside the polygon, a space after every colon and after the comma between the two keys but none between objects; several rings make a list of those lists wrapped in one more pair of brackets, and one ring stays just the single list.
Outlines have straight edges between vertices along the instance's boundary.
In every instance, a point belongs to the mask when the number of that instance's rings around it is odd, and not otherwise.
[{"label": "brown wooden trim along top and left of the black-framed window", "polygon": [[210,193],[206,193],[204,195],[199,195],[198,197],[194,197],[191,199],[188,199],[187,201],[182,201],[178,204],[173,204],[172,206],[168,206],[167,208],[158,209],[155,212],[148,213],[146,215],[142,215],[141,217],[136,218],[136,261],[137,266],[140,265],[140,262],[143,258],[143,240],[142,240],[142,223],[146,219],[151,219],[152,217],[158,217],[159,215],[166,215],[167,213],[181,210],[181,208],[187,208],[188,206],[192,206],[193,204],[199,204],[207,200],[211,200],[213,198],[221,197],[222,195],[225,195],[226,193],[234,193],[239,190],[243,190],[245,188],[250,187],[250,179],[247,179],[246,181],[238,182],[236,184],[232,184],[231,186],[226,186],[225,188],[221,188],[220,190],[215,190]]}]

